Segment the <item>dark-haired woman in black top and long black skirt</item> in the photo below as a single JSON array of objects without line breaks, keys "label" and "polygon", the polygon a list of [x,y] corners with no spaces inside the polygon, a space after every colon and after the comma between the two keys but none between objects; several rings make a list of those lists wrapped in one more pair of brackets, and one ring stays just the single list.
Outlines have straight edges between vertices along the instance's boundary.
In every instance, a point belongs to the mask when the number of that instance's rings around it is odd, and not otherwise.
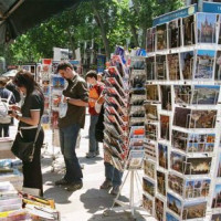
[{"label": "dark-haired woman in black top and long black skirt", "polygon": [[[21,136],[25,141],[34,141],[36,138],[33,159],[30,161],[22,160],[23,188],[39,189],[40,196],[43,196],[41,147],[44,139],[44,131],[40,125],[40,120],[44,112],[44,96],[30,72],[24,70],[19,71],[14,76],[13,83],[25,97],[21,108],[15,105],[11,106],[10,116],[19,120],[17,137]],[[21,115],[18,115],[18,112]],[[39,134],[38,128],[40,129]]]}]

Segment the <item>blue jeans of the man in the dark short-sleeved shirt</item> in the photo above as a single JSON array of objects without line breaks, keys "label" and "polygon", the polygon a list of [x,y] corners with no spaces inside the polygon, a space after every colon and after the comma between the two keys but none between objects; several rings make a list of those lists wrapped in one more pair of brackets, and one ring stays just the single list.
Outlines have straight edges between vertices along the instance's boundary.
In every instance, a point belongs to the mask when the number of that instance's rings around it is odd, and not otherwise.
[{"label": "blue jeans of the man in the dark short-sleeved shirt", "polygon": [[73,124],[71,126],[60,128],[59,131],[61,150],[64,156],[66,167],[64,179],[69,182],[82,182],[82,169],[75,152],[80,125]]}]

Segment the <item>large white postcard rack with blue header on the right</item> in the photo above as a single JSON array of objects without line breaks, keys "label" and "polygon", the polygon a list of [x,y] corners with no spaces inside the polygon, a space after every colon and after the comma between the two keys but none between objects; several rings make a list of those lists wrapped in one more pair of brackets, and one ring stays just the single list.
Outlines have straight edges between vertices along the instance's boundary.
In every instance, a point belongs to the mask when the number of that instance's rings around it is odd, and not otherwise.
[{"label": "large white postcard rack with blue header on the right", "polygon": [[147,30],[143,206],[157,220],[221,219],[220,7],[193,4]]}]

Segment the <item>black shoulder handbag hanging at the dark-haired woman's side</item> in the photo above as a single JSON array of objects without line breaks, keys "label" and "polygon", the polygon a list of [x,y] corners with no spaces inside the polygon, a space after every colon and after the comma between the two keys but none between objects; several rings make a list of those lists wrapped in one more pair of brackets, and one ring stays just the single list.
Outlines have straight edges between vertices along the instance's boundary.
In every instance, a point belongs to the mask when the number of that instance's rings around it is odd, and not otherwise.
[{"label": "black shoulder handbag hanging at the dark-haired woman's side", "polygon": [[34,141],[27,141],[22,136],[21,133],[18,131],[15,139],[12,144],[11,151],[15,157],[21,159],[24,162],[32,162],[35,149],[35,143],[39,137],[39,133],[41,129],[41,120],[39,123],[36,135]]}]

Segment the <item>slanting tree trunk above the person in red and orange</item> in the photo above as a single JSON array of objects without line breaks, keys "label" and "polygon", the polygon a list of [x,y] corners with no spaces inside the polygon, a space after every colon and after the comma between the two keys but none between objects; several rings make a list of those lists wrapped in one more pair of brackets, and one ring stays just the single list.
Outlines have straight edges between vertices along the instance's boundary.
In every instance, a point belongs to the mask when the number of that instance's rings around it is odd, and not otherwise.
[{"label": "slanting tree trunk above the person in red and orange", "polygon": [[106,59],[108,60],[109,55],[110,55],[109,41],[108,41],[107,35],[106,35],[106,30],[105,30],[105,27],[104,27],[104,22],[103,22],[103,20],[101,18],[99,12],[97,11],[97,8],[96,8],[96,4],[95,4],[94,1],[92,1],[92,7],[93,7],[93,10],[94,10],[95,20],[96,20],[97,25],[99,27],[99,30],[101,30],[101,33],[102,33],[102,40],[103,40],[104,48],[105,48]]}]

